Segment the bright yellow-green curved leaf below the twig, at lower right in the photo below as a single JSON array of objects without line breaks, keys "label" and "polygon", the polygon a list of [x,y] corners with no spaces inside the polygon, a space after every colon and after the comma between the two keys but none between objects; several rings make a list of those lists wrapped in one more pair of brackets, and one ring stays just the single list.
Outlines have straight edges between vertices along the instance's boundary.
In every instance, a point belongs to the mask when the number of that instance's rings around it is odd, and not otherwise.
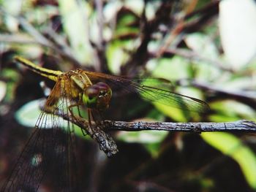
[{"label": "bright yellow-green curved leaf below the twig, at lower right", "polygon": [[256,189],[256,156],[248,146],[229,133],[202,133],[201,136],[209,145],[237,161],[246,181]]}]

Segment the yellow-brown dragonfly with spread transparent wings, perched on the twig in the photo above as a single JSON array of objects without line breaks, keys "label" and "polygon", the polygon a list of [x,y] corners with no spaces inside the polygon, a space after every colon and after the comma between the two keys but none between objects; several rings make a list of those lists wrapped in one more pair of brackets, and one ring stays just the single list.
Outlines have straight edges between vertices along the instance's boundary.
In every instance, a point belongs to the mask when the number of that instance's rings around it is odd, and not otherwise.
[{"label": "yellow-brown dragonfly with spread transparent wings, perched on the twig", "polygon": [[[97,140],[100,149],[108,157],[118,153],[116,143],[105,132],[108,126],[102,120],[102,112],[110,106],[113,87],[123,89],[127,93],[137,93],[147,101],[184,110],[203,112],[208,109],[208,104],[200,99],[161,89],[159,86],[143,84],[143,80],[150,80],[151,77],[128,78],[83,69],[61,72],[45,69],[20,56],[15,56],[15,61],[56,83],[45,101],[33,134],[1,191],[37,191],[48,166],[54,162],[58,164],[57,167],[67,170],[65,176],[59,178],[59,183],[67,185],[67,191],[74,191],[78,179],[75,176],[77,167],[72,137],[74,123]],[[162,79],[159,79],[159,82],[163,82]],[[81,108],[87,110],[87,123],[84,123],[80,114]],[[64,123],[67,128],[63,137],[60,137],[60,127],[64,126]],[[50,136],[42,130],[50,132]]]}]

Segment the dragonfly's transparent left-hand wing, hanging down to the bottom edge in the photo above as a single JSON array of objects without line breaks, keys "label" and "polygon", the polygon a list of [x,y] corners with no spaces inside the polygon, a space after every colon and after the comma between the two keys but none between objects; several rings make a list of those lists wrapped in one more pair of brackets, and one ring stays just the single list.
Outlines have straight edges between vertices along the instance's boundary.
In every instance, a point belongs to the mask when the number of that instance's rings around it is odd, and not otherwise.
[{"label": "dragonfly's transparent left-hand wing, hanging down to the bottom edge", "polygon": [[[53,102],[57,101],[56,96],[60,93],[61,82],[57,82],[50,93],[47,104],[52,104],[54,110],[69,114],[67,110],[69,93],[61,96],[58,102]],[[63,126],[66,127],[66,131],[61,129]],[[49,169],[53,173],[58,173],[58,175],[51,175],[56,177],[54,180],[58,181],[54,184],[54,188],[58,191],[74,190],[76,163],[71,128],[72,126],[61,118],[41,112],[33,134],[23,148],[1,191],[37,191]]]}]

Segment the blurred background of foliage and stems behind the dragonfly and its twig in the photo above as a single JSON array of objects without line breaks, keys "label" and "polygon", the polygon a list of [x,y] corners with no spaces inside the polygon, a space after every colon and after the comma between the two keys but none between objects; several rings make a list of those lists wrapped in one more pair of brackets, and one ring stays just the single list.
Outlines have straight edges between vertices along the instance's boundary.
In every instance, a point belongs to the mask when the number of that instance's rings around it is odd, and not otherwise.
[{"label": "blurred background of foliage and stems behind the dragonfly and its twig", "polygon": [[[116,93],[106,119],[256,120],[255,22],[252,0],[0,1],[0,185],[34,130],[45,97],[40,82],[54,85],[14,55],[63,72],[163,77],[211,108],[184,112]],[[83,191],[256,191],[255,134],[111,134],[113,158],[78,137]],[[55,191],[59,174],[49,170],[39,191]]]}]

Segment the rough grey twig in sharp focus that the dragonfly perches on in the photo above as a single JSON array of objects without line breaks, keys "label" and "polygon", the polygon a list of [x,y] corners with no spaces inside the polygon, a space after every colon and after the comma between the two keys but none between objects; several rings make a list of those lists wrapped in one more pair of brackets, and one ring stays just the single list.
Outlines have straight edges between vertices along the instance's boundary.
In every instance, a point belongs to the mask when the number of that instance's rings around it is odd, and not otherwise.
[{"label": "rough grey twig in sharp focus that the dragonfly perches on", "polygon": [[[84,118],[75,116],[69,118],[67,114],[56,112],[64,120],[69,120],[86,131],[86,134],[99,143],[99,149],[103,150],[108,157],[115,155],[118,152],[116,142],[105,131],[183,131],[191,133],[213,132],[213,131],[243,131],[256,132],[256,123],[249,120],[238,120],[227,123],[171,123],[171,122],[126,122],[103,120],[102,125],[89,122]],[[105,130],[102,130],[102,126]]]}]

